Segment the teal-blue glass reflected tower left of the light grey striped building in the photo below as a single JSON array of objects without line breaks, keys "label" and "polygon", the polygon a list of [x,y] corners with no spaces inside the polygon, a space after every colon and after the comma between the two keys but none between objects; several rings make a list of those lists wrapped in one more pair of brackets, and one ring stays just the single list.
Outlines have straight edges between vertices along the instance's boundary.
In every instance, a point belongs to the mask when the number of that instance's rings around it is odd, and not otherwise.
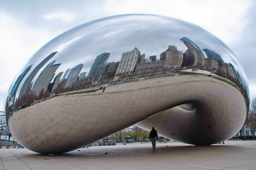
[{"label": "teal-blue glass reflected tower left of the light grey striped building", "polygon": [[108,61],[109,55],[110,53],[104,52],[96,57],[94,63],[91,65],[88,77],[96,77],[106,72],[108,67],[106,66],[106,62]]}]

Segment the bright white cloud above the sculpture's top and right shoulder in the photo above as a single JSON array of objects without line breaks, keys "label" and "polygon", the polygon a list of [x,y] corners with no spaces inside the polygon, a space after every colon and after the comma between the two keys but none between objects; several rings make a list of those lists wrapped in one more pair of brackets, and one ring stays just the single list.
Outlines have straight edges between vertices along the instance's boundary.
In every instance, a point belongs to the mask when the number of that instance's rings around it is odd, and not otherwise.
[{"label": "bright white cloud above the sculpture's top and right shoulder", "polygon": [[109,0],[104,4],[105,9],[111,8],[111,15],[151,13],[189,21],[225,42],[233,42],[242,31],[245,26],[243,17],[249,6],[249,0]]}]

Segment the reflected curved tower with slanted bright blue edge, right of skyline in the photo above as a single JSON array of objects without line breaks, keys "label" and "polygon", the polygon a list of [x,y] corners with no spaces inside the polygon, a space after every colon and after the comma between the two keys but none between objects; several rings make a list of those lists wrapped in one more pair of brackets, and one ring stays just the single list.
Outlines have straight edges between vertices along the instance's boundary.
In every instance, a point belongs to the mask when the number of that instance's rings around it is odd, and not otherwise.
[{"label": "reflected curved tower with slanted bright blue edge, right of skyline", "polygon": [[189,38],[181,38],[184,45],[187,46],[188,50],[186,51],[186,57],[191,58],[189,60],[194,60],[193,66],[196,67],[204,67],[205,60],[204,60],[204,54],[201,52],[201,49]]}]

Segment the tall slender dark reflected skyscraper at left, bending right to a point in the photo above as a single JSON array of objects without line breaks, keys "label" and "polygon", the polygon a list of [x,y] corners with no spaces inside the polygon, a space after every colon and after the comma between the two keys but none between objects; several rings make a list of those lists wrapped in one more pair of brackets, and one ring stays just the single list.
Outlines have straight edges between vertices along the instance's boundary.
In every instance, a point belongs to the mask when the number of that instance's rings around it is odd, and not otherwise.
[{"label": "tall slender dark reflected skyscraper at left, bending right to a point", "polygon": [[33,69],[33,71],[30,73],[30,75],[28,76],[28,78],[26,79],[26,81],[23,83],[23,86],[21,87],[21,91],[19,94],[19,97],[21,97],[23,94],[28,93],[28,91],[30,91],[31,88],[31,84],[32,84],[32,80],[35,77],[35,75],[38,73],[38,71],[43,67],[43,65],[48,62],[53,56],[56,55],[57,52],[52,52],[50,55],[48,55],[48,57],[46,57],[42,62],[40,62],[38,64],[37,67],[35,67],[35,69]]}]

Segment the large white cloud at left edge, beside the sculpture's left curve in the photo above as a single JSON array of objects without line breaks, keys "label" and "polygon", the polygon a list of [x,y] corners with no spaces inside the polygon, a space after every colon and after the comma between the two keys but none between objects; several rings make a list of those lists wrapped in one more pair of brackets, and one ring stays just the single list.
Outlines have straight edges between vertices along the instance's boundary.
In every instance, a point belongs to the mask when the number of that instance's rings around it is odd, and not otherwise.
[{"label": "large white cloud at left edge, beside the sculpture's left curve", "polygon": [[30,28],[7,13],[0,13],[0,105],[11,81],[28,59],[52,35],[45,28]]}]

